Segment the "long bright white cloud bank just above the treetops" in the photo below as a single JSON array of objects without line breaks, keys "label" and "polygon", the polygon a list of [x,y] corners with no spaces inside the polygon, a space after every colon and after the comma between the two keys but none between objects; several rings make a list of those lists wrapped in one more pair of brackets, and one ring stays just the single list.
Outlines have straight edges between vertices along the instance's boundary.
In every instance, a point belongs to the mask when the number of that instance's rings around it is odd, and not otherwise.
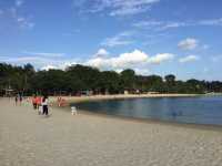
[{"label": "long bright white cloud bank just above the treetops", "polygon": [[[100,49],[95,54],[100,56],[92,55],[88,60],[77,60],[77,59],[64,59],[63,56],[58,56],[57,59],[51,56],[51,54],[44,55],[26,55],[26,56],[1,56],[0,62],[11,63],[16,65],[23,65],[27,63],[33,64],[37,69],[49,70],[49,69],[61,69],[64,70],[73,64],[83,64],[98,68],[100,70],[114,70],[122,71],[124,69],[133,69],[138,74],[149,74],[150,64],[161,64],[168,62],[174,58],[173,54],[162,53],[150,56],[145,52],[140,50],[134,50],[132,52],[121,53],[117,56],[105,56],[108,51]],[[103,55],[101,55],[103,54]]]}]

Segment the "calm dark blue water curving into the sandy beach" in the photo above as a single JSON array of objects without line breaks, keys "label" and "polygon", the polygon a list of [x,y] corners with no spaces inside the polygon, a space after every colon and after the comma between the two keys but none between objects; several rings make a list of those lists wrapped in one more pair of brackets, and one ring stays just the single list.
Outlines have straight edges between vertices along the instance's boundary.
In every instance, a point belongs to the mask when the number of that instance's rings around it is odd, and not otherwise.
[{"label": "calm dark blue water curving into the sandy beach", "polygon": [[109,115],[222,125],[222,96],[125,98],[74,105]]}]

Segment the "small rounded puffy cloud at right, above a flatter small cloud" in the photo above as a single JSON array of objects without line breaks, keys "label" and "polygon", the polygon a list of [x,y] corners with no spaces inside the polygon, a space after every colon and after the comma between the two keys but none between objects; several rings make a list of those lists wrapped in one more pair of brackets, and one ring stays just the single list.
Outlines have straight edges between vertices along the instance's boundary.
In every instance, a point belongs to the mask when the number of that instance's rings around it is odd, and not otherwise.
[{"label": "small rounded puffy cloud at right, above a flatter small cloud", "polygon": [[193,38],[188,38],[179,42],[178,46],[182,50],[194,50],[199,44],[199,41]]}]

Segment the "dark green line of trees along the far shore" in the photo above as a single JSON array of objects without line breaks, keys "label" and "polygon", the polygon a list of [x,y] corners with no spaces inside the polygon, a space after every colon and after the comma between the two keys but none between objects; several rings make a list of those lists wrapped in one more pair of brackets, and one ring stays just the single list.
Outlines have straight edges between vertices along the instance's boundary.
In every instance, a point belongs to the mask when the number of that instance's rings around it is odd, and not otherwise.
[{"label": "dark green line of trees along the far shore", "polygon": [[50,95],[79,95],[85,92],[93,94],[130,93],[221,93],[222,82],[176,80],[175,75],[137,75],[131,69],[121,73],[115,71],[100,71],[84,65],[72,65],[63,70],[36,71],[31,64],[13,66],[0,63],[0,92],[13,90],[23,92],[48,93]]}]

